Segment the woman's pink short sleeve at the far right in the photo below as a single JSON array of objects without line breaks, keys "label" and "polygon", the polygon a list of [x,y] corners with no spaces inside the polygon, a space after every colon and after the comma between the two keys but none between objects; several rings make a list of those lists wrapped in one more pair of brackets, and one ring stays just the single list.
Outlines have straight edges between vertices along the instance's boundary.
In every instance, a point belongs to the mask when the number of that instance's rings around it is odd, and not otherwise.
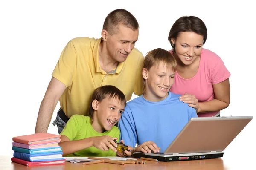
[{"label": "woman's pink short sleeve at the far right", "polygon": [[[215,54],[216,55],[216,54]],[[230,77],[230,72],[227,70],[224,62],[217,55],[215,66],[212,69],[211,79],[213,84],[218,84]]]}]

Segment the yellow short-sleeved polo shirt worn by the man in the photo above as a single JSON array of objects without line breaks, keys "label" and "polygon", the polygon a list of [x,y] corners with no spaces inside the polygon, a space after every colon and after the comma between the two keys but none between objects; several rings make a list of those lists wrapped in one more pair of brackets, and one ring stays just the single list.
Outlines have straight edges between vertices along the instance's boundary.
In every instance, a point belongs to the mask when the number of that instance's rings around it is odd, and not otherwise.
[{"label": "yellow short-sleeved polo shirt worn by the man", "polygon": [[127,101],[133,92],[143,94],[143,54],[134,48],[125,62],[107,74],[99,66],[101,40],[88,37],[70,40],[52,72],[52,76],[66,86],[60,105],[68,118],[75,114],[87,116],[91,95],[100,86],[116,86]]}]

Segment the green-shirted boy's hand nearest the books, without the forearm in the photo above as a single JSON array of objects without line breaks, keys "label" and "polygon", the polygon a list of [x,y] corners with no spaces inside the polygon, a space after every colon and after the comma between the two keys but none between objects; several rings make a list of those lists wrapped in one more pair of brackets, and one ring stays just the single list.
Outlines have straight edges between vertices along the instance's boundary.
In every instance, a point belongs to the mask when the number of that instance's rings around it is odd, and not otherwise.
[{"label": "green-shirted boy's hand nearest the books, without the forearm", "polygon": [[115,139],[117,140],[117,138],[112,138],[108,135],[93,137],[93,146],[103,151],[111,149],[117,152],[117,144],[114,142]]}]

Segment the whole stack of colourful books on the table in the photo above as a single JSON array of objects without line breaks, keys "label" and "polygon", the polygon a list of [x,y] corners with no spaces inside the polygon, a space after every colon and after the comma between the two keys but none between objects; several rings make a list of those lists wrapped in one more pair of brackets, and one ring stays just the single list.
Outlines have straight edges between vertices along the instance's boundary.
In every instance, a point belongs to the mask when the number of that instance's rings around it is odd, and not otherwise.
[{"label": "whole stack of colourful books on the table", "polygon": [[11,160],[26,166],[65,164],[60,135],[36,133],[12,138]]}]

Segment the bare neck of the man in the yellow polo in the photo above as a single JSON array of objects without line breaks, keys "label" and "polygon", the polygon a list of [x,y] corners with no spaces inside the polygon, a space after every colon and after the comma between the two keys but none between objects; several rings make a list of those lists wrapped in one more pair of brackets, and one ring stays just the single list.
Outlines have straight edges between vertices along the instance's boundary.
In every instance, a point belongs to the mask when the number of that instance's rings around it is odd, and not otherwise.
[{"label": "bare neck of the man in the yellow polo", "polygon": [[119,62],[113,60],[108,52],[107,44],[105,41],[101,41],[99,44],[99,65],[105,72],[113,70]]}]

